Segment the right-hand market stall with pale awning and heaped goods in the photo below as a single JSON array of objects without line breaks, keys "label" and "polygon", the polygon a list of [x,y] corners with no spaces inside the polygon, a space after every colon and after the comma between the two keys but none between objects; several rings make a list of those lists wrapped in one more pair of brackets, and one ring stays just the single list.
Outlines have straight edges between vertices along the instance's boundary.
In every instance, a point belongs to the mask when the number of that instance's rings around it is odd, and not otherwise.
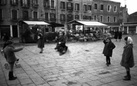
[{"label": "right-hand market stall with pale awning and heaped goods", "polygon": [[70,36],[82,41],[101,39],[105,28],[108,27],[106,24],[97,21],[73,20],[68,25],[71,27],[69,29]]}]

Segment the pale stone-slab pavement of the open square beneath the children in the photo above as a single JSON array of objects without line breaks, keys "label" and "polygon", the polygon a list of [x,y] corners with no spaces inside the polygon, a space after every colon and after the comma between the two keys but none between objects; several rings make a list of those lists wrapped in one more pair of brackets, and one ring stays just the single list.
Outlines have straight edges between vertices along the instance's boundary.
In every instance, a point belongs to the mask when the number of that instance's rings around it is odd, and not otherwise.
[{"label": "pale stone-slab pavement of the open square beneath the children", "polygon": [[[132,37],[137,64],[137,36]],[[0,86],[137,86],[137,65],[131,68],[131,81],[123,81],[126,72],[120,61],[124,41],[112,41],[116,48],[109,67],[102,54],[102,41],[68,43],[69,50],[62,56],[54,50],[55,44],[45,44],[42,54],[36,44],[24,45],[16,53],[21,67],[15,67],[18,78],[14,81],[8,80],[6,61],[0,54]]]}]

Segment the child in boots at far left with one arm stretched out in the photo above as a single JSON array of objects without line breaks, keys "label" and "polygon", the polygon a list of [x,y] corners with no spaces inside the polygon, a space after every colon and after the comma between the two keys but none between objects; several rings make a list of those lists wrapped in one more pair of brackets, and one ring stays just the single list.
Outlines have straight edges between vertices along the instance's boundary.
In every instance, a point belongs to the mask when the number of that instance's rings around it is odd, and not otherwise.
[{"label": "child in boots at far left with one arm stretched out", "polygon": [[9,80],[17,79],[17,77],[14,77],[14,74],[13,74],[14,64],[18,60],[15,56],[15,52],[18,52],[22,49],[23,48],[15,49],[15,47],[13,46],[13,42],[10,40],[7,41],[7,45],[4,48],[3,52],[4,52],[4,56],[6,58],[6,61],[8,62],[9,66],[10,66],[9,75],[8,75]]}]

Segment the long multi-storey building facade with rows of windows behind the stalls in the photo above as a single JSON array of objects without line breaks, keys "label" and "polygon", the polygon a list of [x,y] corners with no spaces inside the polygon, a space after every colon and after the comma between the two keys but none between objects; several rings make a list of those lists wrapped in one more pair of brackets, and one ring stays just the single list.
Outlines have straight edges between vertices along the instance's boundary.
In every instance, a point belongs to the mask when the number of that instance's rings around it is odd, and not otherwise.
[{"label": "long multi-storey building facade with rows of windows behind the stalls", "polygon": [[110,0],[0,0],[0,38],[20,37],[19,21],[67,24],[76,20],[118,23],[120,3]]}]

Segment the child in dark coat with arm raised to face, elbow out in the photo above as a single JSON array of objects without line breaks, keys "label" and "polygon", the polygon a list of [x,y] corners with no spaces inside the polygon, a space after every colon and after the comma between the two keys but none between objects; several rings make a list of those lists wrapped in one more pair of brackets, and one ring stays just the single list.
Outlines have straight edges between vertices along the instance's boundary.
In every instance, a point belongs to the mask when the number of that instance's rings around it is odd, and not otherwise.
[{"label": "child in dark coat with arm raised to face, elbow out", "polygon": [[115,48],[115,44],[111,41],[109,37],[107,37],[103,43],[105,44],[103,49],[103,54],[106,56],[106,65],[109,66],[111,64],[110,57],[112,57],[113,49]]}]

